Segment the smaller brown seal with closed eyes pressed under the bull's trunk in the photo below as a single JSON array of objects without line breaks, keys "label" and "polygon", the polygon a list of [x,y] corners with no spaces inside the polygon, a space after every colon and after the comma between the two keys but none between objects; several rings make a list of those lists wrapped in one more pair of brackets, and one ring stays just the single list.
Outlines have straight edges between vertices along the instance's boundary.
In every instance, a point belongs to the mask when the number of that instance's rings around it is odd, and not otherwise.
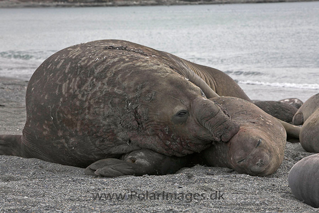
[{"label": "smaller brown seal with closed eyes pressed under the bull's trunk", "polygon": [[240,128],[229,142],[215,143],[204,150],[204,162],[253,176],[266,176],[277,171],[285,154],[284,126],[246,100],[234,97],[210,100],[220,104]]}]

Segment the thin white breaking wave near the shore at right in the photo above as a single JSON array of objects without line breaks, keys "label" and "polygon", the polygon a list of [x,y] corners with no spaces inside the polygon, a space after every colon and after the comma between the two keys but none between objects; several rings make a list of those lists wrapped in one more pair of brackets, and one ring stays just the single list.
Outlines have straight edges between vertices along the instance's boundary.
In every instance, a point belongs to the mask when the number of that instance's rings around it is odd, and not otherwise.
[{"label": "thin white breaking wave near the shore at right", "polygon": [[287,88],[297,88],[297,89],[319,89],[319,84],[298,84],[298,83],[286,83],[286,82],[261,82],[261,81],[238,81],[241,84],[252,84],[252,85],[265,85],[272,87],[287,87]]}]

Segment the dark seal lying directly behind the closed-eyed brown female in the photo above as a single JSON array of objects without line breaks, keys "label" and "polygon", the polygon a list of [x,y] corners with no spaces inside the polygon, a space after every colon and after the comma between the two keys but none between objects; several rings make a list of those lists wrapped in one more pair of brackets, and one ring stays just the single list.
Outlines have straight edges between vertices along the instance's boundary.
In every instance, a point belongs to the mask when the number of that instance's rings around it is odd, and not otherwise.
[{"label": "dark seal lying directly behind the closed-eyed brown female", "polygon": [[290,123],[298,109],[288,103],[280,101],[258,101],[254,103],[266,113],[282,121]]}]

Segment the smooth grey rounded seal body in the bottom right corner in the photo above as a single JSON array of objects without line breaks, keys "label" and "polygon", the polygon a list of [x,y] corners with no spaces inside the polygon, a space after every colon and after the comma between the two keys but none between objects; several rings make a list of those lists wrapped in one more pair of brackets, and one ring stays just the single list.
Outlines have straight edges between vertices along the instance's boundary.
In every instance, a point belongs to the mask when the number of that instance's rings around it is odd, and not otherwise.
[{"label": "smooth grey rounded seal body in the bottom right corner", "polygon": [[303,158],[288,175],[293,195],[306,204],[319,208],[319,154]]}]

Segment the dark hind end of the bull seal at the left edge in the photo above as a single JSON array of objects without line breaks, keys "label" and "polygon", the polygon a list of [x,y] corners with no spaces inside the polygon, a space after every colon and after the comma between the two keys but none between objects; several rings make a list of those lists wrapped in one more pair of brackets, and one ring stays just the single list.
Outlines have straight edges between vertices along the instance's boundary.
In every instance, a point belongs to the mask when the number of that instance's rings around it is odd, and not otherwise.
[{"label": "dark hind end of the bull seal at the left edge", "polygon": [[0,135],[0,155],[21,156],[22,135]]}]

